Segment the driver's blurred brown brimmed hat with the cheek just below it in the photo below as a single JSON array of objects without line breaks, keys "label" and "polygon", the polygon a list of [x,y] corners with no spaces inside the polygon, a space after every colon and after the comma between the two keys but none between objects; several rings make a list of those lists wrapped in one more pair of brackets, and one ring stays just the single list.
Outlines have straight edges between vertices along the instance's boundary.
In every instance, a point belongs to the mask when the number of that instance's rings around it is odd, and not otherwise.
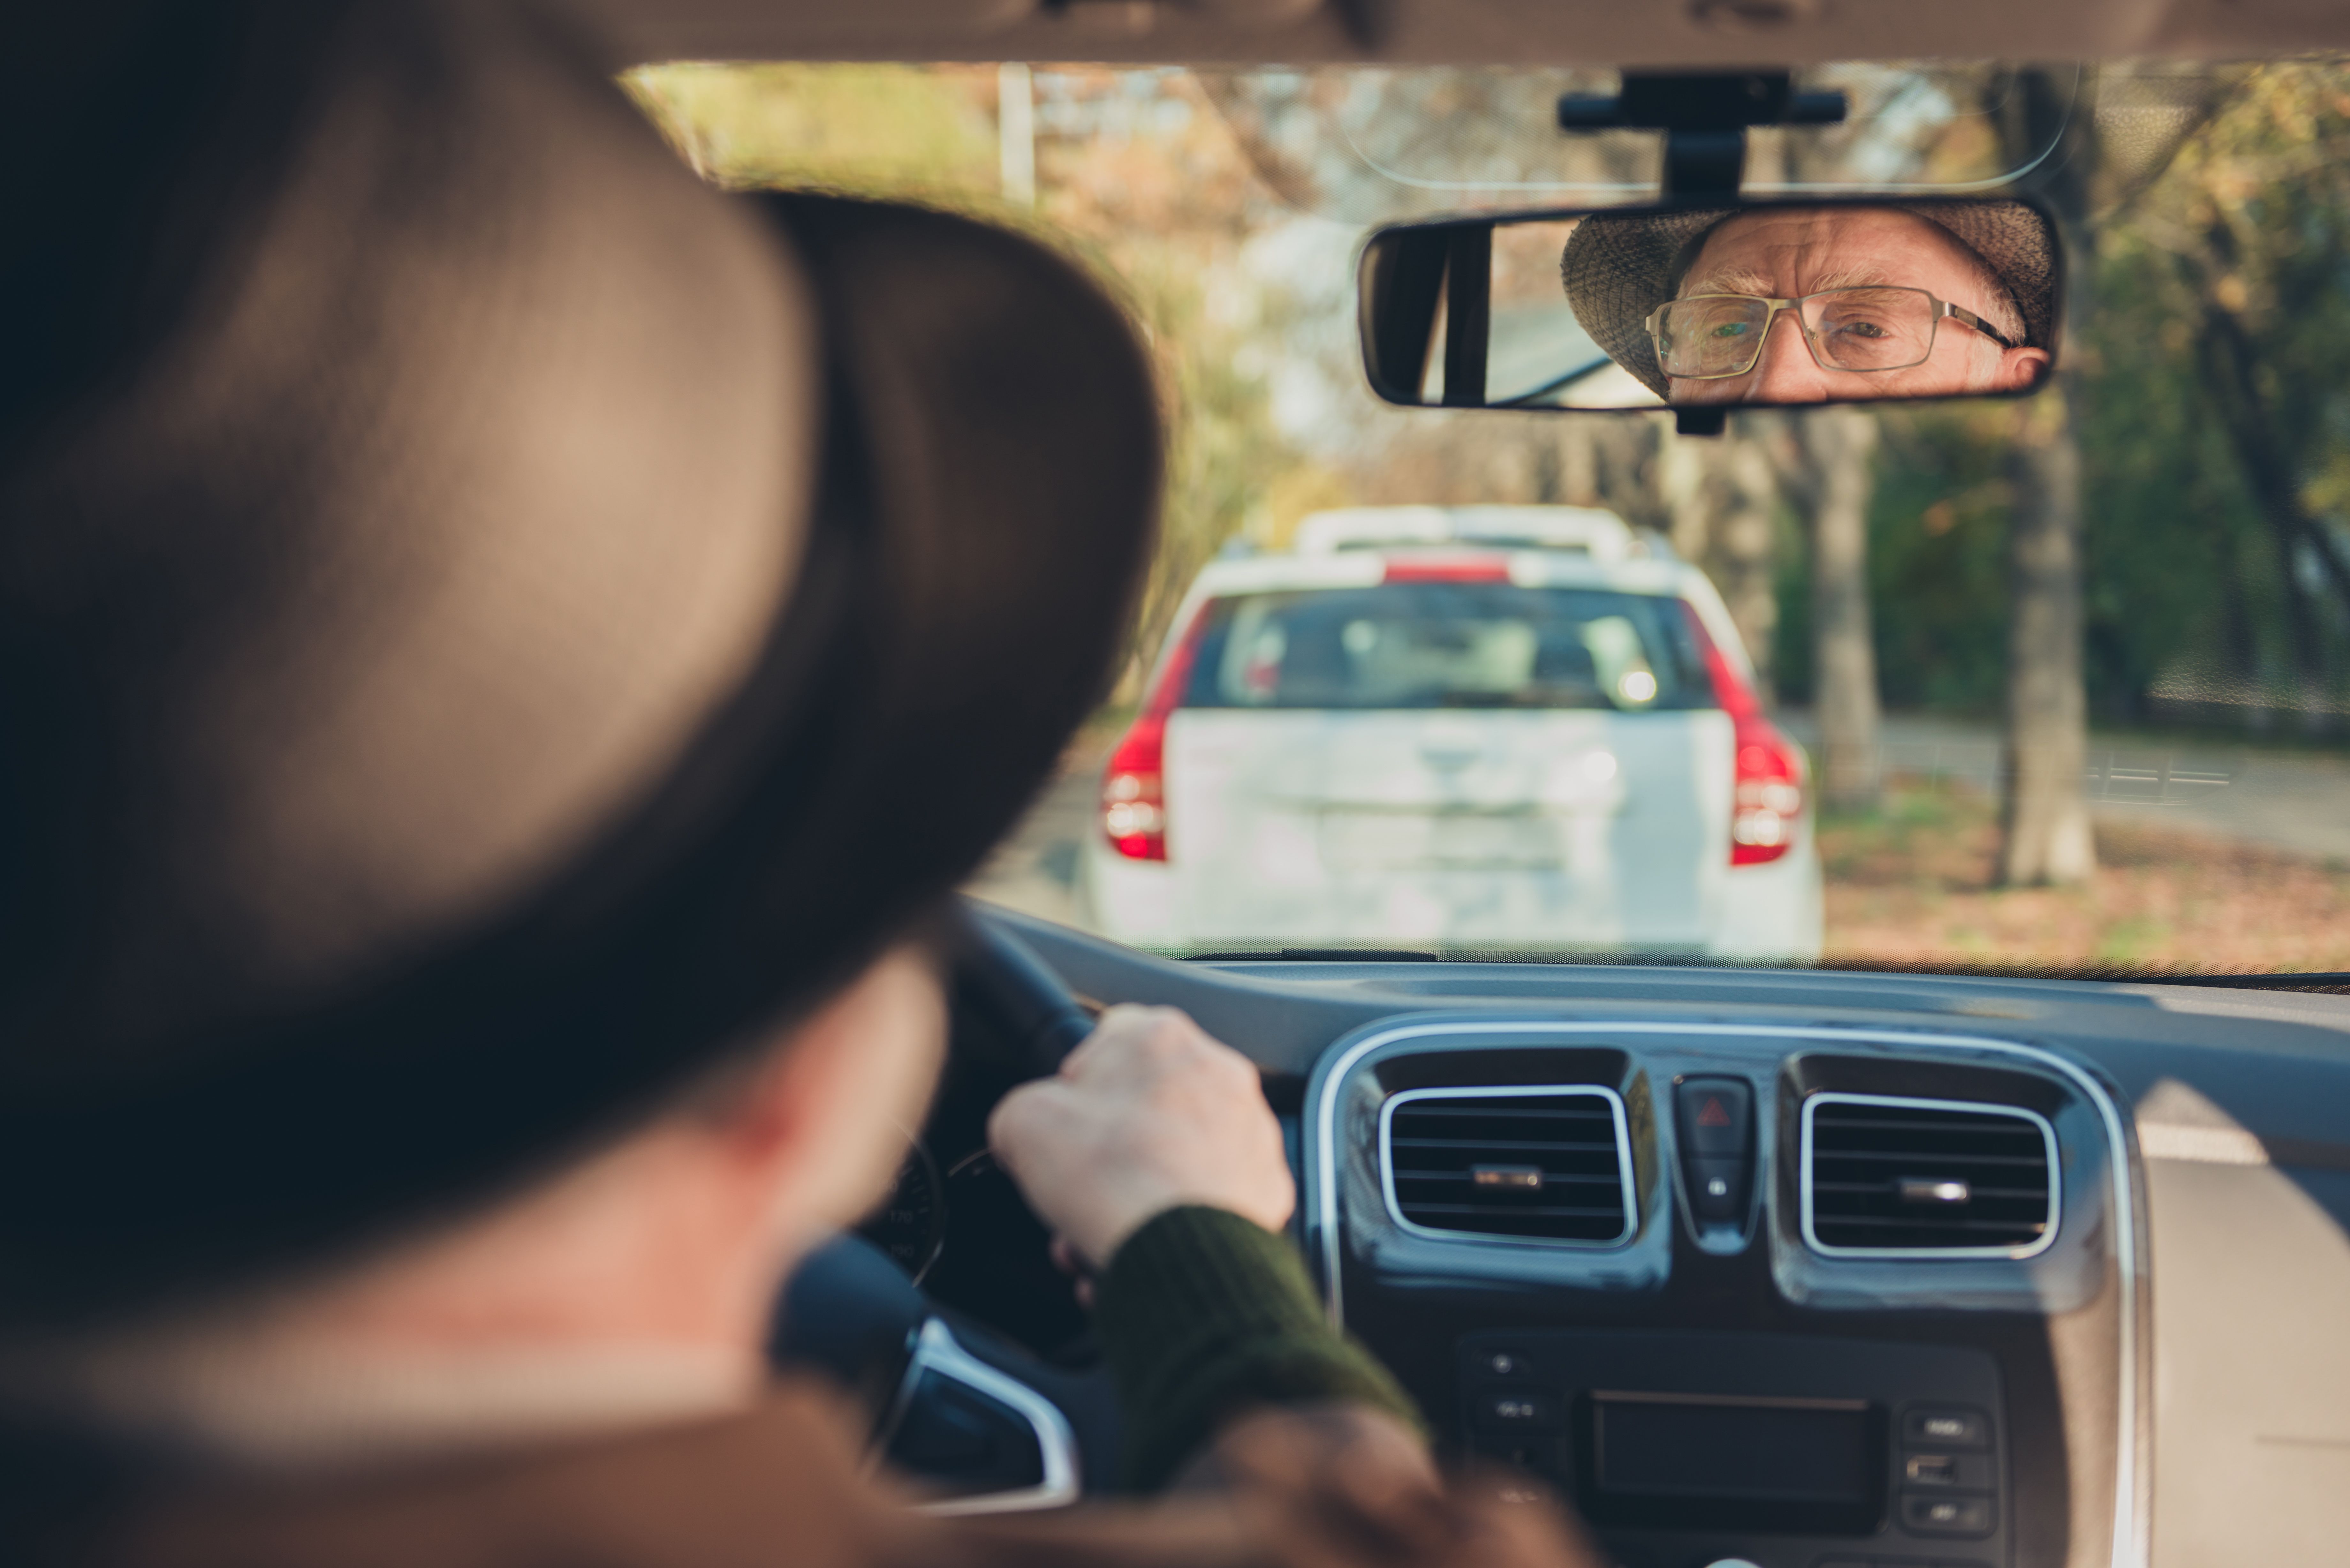
[{"label": "driver's blurred brown brimmed hat with the cheek just below it", "polygon": [[0,106],[0,1338],[653,1126],[870,1194],[1149,550],[1126,317],[543,7],[94,9]]}]

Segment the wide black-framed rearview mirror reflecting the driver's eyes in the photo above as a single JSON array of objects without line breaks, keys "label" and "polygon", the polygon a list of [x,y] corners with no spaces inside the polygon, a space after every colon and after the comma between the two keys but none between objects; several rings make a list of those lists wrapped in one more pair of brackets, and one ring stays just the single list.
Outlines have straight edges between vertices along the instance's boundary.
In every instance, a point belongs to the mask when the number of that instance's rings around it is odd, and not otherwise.
[{"label": "wide black-framed rearview mirror reflecting the driver's eyes", "polygon": [[[2021,395],[2056,353],[2056,226],[2028,202],[1713,202],[1372,233],[1379,397],[1704,409]],[[1716,414],[1718,418],[1718,414]]]}]

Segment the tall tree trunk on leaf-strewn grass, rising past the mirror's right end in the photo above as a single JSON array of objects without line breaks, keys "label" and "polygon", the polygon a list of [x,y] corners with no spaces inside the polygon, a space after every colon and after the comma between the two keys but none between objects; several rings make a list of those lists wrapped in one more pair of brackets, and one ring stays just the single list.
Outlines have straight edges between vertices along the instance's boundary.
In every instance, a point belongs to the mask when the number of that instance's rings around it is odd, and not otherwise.
[{"label": "tall tree trunk on leaf-strewn grass, rising past the mirror's right end", "polygon": [[[2089,233],[2092,120],[2073,113],[2070,75],[2023,73],[2016,132],[2047,146],[2040,195],[2066,242],[2063,320],[2087,320],[2096,270]],[[2056,386],[2019,409],[2012,458],[2016,505],[2007,534],[2007,733],[2000,790],[2000,882],[2033,886],[2096,875],[2089,832],[2089,693],[2082,677],[2080,374],[2073,331],[2059,329]]]}]

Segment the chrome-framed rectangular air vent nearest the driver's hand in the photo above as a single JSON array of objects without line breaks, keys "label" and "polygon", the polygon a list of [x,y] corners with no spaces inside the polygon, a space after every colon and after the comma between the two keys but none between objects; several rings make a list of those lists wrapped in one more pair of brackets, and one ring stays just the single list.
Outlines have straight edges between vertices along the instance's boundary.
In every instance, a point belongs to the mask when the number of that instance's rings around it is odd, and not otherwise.
[{"label": "chrome-framed rectangular air vent nearest the driver's hand", "polygon": [[1441,1237],[1631,1239],[1631,1150],[1612,1088],[1408,1088],[1379,1110],[1398,1225]]}]

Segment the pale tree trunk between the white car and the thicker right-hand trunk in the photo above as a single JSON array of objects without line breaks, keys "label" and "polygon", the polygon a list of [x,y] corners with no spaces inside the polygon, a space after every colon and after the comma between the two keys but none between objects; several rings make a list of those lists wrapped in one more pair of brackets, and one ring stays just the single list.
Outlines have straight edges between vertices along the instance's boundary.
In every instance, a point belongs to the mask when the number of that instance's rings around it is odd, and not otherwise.
[{"label": "pale tree trunk between the white car and the thicker right-hand trunk", "polygon": [[1812,715],[1819,795],[1835,809],[1878,804],[1878,649],[1868,623],[1868,501],[1878,421],[1821,409],[1802,421],[1817,475],[1812,505]]}]

